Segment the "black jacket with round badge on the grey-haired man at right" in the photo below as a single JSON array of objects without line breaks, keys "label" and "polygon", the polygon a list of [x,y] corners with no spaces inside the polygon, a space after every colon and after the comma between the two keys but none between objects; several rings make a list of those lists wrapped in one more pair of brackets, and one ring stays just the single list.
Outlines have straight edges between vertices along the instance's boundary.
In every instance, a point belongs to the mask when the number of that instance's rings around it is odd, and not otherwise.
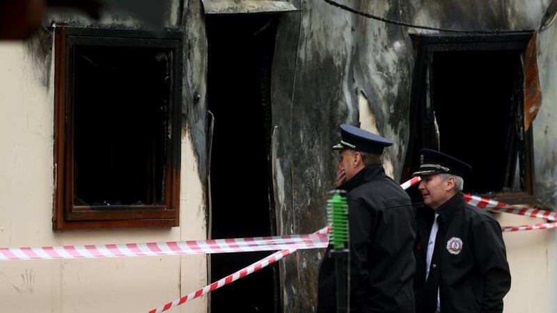
[{"label": "black jacket with round badge on the grey-haired man at right", "polygon": [[[437,213],[439,229],[427,280],[438,284],[441,313],[503,312],[510,271],[501,226],[491,214],[466,204],[462,193],[441,204]],[[414,282],[418,313],[430,312],[425,309],[431,298],[425,258],[433,218],[433,209],[418,208]]]}]

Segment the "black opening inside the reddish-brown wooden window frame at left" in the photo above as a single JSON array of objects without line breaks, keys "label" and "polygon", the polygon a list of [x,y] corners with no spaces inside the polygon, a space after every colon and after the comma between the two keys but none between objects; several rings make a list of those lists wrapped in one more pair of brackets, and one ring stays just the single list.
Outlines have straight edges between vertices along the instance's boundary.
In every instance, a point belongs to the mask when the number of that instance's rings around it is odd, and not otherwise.
[{"label": "black opening inside the reddish-brown wooden window frame at left", "polygon": [[164,204],[170,51],[75,47],[74,204]]}]

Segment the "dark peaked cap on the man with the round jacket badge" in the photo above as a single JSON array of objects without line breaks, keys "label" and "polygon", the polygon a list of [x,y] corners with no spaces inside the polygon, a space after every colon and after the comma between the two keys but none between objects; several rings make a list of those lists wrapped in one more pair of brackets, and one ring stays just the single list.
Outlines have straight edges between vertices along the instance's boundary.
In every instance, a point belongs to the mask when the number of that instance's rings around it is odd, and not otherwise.
[{"label": "dark peaked cap on the man with the round jacket badge", "polygon": [[468,164],[431,149],[420,150],[420,169],[412,176],[453,174],[462,177],[472,169]]}]

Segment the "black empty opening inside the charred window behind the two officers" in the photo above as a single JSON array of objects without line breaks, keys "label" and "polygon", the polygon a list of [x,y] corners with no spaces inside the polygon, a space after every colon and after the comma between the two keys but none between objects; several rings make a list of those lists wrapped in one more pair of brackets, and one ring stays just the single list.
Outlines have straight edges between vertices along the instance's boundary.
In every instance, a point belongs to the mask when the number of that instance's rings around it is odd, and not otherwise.
[{"label": "black empty opening inside the charred window behind the two officers", "polygon": [[519,51],[434,54],[432,99],[441,151],[472,166],[466,191],[525,191],[524,184],[513,183],[524,160],[520,64]]}]

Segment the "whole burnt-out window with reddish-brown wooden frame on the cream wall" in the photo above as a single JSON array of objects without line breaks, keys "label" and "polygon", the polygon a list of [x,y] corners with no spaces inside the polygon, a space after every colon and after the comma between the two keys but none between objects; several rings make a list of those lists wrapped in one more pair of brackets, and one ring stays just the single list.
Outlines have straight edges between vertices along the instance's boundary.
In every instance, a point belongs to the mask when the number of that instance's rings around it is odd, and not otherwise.
[{"label": "whole burnt-out window with reddish-brown wooden frame on the cream wall", "polygon": [[55,36],[54,228],[178,225],[180,33]]}]

